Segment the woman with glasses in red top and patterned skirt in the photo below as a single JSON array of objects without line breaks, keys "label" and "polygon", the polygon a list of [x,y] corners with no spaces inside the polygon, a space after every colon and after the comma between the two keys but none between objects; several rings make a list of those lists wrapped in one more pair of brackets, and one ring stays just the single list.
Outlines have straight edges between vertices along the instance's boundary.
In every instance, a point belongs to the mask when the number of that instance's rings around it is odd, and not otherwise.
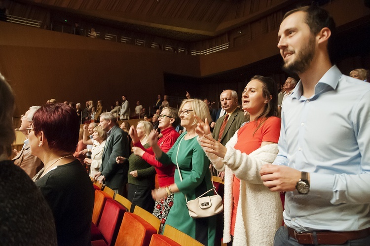
[{"label": "woman with glasses in red top and patterned skirt", "polygon": [[[175,127],[180,123],[180,118],[175,108],[163,108],[159,120],[158,128],[161,130],[161,135],[158,139],[159,148],[164,152],[168,152],[169,149],[175,144],[180,134],[175,130]],[[155,159],[152,148],[144,148],[140,143],[137,136],[133,136],[132,148],[135,155],[140,156],[148,164],[154,166],[158,177],[159,187],[165,188],[168,185],[174,183],[174,172],[175,165],[163,165]],[[170,194],[160,201],[155,201],[153,214],[160,219],[161,227],[159,233],[163,230],[163,225],[166,222],[167,215],[173,205],[174,195]]]}]

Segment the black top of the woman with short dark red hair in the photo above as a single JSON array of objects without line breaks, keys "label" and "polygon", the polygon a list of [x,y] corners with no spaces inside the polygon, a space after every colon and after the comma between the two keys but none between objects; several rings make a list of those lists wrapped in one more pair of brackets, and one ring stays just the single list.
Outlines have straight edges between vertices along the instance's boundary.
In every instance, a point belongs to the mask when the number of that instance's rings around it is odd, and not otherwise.
[{"label": "black top of the woman with short dark red hair", "polygon": [[58,245],[90,245],[94,188],[80,162],[59,165],[35,183],[53,211]]}]

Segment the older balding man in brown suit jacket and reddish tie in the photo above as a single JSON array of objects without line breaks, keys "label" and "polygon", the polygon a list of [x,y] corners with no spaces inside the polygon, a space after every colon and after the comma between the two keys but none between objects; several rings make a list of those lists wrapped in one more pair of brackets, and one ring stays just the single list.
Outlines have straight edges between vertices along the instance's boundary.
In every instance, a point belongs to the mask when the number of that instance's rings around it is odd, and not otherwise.
[{"label": "older balding man in brown suit jacket and reddish tie", "polygon": [[222,91],[220,101],[226,114],[217,120],[212,136],[222,145],[226,145],[241,124],[249,119],[245,119],[244,112],[238,108],[238,94],[235,90]]}]

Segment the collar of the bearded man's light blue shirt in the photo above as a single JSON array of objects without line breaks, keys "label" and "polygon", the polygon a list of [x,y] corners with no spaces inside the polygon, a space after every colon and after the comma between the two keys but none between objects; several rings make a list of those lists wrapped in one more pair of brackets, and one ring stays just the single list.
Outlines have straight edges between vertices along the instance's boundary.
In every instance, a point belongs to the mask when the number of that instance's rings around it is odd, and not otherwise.
[{"label": "collar of the bearded man's light blue shirt", "polygon": [[[317,82],[315,85],[315,94],[311,98],[317,98],[320,94],[329,91],[334,90],[339,82],[340,77],[342,76],[342,73],[338,69],[336,65],[331,67],[323,77]],[[296,85],[295,90],[292,92],[292,96],[296,99],[299,99],[302,96],[302,90],[303,85],[302,81],[299,80],[299,82]]]}]

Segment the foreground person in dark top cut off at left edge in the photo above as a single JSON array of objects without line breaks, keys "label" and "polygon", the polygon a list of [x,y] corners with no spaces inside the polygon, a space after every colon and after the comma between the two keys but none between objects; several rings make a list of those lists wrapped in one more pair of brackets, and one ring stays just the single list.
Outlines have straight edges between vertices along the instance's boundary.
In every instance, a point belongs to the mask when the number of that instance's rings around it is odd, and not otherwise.
[{"label": "foreground person in dark top cut off at left edge", "polygon": [[[0,2],[1,4],[1,2]],[[1,245],[56,246],[53,214],[27,174],[12,161],[14,95],[0,74],[0,239]]]}]

